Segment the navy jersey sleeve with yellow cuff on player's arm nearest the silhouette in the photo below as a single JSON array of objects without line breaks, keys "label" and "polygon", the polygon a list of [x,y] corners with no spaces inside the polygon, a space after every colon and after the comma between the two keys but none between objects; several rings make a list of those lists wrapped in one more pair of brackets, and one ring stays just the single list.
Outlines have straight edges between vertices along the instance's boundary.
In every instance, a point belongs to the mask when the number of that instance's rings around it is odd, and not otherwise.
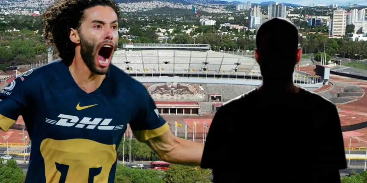
[{"label": "navy jersey sleeve with yellow cuff on player's arm nearest the silhouette", "polygon": [[137,102],[138,112],[131,120],[130,127],[138,141],[158,137],[170,129],[170,126],[159,115],[157,106],[145,87]]}]

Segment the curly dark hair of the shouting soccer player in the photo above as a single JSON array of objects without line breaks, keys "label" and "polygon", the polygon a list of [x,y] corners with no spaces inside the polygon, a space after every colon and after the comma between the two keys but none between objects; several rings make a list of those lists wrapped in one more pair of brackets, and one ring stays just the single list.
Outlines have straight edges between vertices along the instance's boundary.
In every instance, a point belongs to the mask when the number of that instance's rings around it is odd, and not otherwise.
[{"label": "curly dark hair of the shouting soccer player", "polygon": [[98,5],[109,6],[120,16],[120,8],[113,0],[59,0],[43,13],[43,38],[66,64],[70,65],[75,56],[70,28],[79,29],[84,10]]}]

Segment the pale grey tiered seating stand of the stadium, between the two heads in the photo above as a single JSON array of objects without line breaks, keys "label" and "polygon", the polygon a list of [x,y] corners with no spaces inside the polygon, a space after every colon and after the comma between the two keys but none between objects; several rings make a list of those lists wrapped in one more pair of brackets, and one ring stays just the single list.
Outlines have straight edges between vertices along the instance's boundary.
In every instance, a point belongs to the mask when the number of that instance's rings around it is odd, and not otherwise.
[{"label": "pale grey tiered seating stand of the stadium, between the two heads", "polygon": [[260,73],[250,57],[214,51],[123,50],[115,51],[112,63],[130,73]]}]

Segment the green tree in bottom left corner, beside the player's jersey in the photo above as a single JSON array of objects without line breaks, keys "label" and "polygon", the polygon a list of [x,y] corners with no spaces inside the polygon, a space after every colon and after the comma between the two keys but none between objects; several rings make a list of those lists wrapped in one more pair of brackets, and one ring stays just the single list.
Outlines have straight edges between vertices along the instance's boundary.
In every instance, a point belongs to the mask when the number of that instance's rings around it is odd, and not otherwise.
[{"label": "green tree in bottom left corner, beside the player's jersey", "polygon": [[23,170],[18,167],[17,161],[8,160],[4,164],[0,159],[0,183],[23,183],[24,181]]}]

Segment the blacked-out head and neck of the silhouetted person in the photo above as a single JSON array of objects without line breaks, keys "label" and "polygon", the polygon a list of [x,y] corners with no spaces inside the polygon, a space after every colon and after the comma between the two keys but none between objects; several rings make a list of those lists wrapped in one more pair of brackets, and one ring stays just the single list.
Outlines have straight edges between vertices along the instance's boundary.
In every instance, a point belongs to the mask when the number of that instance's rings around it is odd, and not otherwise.
[{"label": "blacked-out head and neck of the silhouetted person", "polygon": [[264,80],[292,80],[302,54],[298,44],[298,29],[286,19],[272,18],[259,27],[254,56]]}]

